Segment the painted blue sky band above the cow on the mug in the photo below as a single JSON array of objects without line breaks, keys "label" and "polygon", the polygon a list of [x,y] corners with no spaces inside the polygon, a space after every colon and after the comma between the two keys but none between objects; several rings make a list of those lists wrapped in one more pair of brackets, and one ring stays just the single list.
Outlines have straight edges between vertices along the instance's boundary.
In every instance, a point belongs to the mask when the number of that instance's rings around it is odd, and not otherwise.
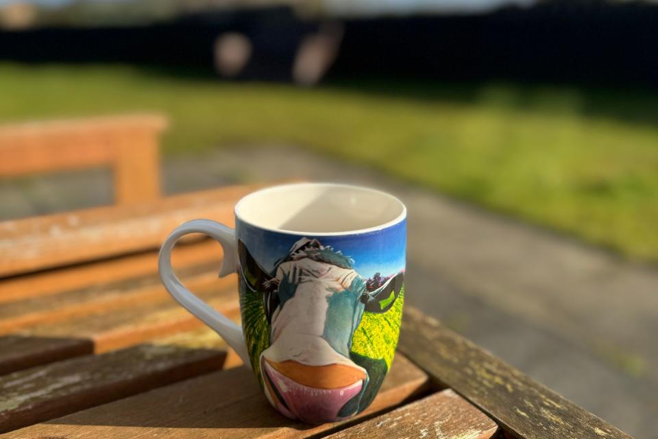
[{"label": "painted blue sky band above the cow on the mug", "polygon": [[238,237],[258,263],[271,272],[274,263],[302,237],[317,239],[324,246],[332,246],[354,260],[354,270],[363,278],[379,272],[382,276],[404,270],[406,220],[375,233],[345,236],[289,235],[261,230],[248,224],[238,224]]}]

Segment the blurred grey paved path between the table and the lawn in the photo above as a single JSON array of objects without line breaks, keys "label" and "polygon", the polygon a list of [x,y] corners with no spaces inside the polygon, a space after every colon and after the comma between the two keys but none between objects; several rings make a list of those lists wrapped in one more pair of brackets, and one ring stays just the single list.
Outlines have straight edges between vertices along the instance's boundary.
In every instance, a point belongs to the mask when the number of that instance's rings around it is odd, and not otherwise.
[{"label": "blurred grey paved path between the table and the lawn", "polygon": [[[629,434],[658,438],[657,270],[294,149],[182,156],[164,176],[168,193],[293,176],[396,193],[410,213],[409,302]],[[0,202],[14,215],[108,203],[109,178],[23,180],[21,196],[2,184]]]}]

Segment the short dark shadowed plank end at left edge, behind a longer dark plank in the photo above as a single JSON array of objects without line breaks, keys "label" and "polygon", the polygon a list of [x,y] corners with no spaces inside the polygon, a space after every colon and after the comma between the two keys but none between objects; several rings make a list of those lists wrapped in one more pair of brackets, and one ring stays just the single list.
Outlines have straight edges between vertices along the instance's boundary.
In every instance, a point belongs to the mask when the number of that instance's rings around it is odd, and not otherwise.
[{"label": "short dark shadowed plank end at left edge, behind a longer dark plank", "polygon": [[80,338],[0,337],[0,375],[93,353],[91,340]]}]

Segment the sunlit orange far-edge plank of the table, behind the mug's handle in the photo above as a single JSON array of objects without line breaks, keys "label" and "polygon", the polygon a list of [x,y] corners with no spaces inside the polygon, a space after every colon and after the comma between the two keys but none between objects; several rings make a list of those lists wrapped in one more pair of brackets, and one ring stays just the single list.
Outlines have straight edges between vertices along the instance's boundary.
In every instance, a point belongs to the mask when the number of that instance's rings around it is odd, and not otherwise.
[{"label": "sunlit orange far-edge plank of the table, behind the mug's handle", "polygon": [[234,222],[233,206],[255,187],[226,187],[157,202],[86,209],[0,223],[0,276],[154,250],[188,219]]}]

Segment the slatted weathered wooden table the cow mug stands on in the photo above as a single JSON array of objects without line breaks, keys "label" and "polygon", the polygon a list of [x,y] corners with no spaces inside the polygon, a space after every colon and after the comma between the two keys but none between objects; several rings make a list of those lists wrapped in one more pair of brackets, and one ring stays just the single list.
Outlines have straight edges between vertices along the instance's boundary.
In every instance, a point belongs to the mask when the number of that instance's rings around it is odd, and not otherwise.
[{"label": "slatted weathered wooden table the cow mug stands on", "polygon": [[[1,436],[629,438],[409,306],[368,410],[319,426],[280,416],[156,272],[174,226],[195,217],[230,224],[234,202],[253,189],[0,223]],[[238,319],[235,278],[217,278],[221,257],[219,244],[192,237],[173,263]]]}]

